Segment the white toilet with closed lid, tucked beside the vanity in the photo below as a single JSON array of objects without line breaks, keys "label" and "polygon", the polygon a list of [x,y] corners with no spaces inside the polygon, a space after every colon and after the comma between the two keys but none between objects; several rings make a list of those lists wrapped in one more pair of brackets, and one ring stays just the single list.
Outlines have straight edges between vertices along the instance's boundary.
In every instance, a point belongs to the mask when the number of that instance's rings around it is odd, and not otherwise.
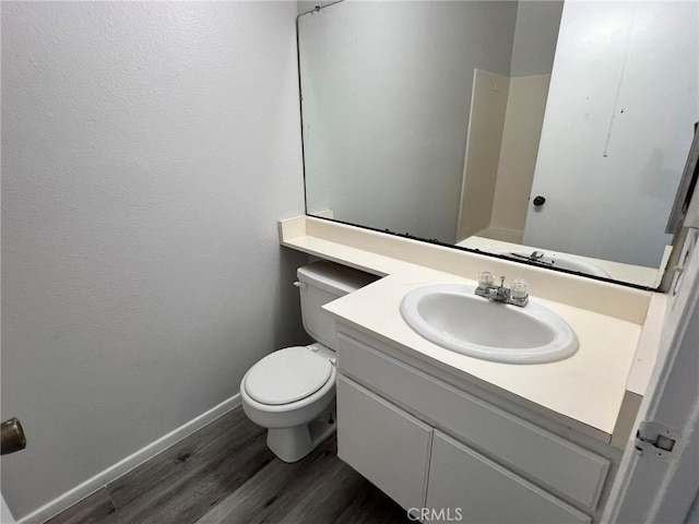
[{"label": "white toilet with closed lid, tucked beside the vanity", "polygon": [[284,462],[301,460],[335,430],[335,323],[321,307],[377,279],[324,261],[296,274],[304,329],[316,342],[268,355],[240,382],[245,414],[268,428],[266,444]]}]

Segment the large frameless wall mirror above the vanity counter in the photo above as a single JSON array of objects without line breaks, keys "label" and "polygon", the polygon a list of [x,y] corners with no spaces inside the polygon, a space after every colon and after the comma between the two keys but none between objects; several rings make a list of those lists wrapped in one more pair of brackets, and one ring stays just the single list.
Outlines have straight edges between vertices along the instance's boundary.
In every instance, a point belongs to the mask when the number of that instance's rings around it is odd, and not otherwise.
[{"label": "large frameless wall mirror above the vanity counter", "polygon": [[698,20],[696,1],[311,10],[307,214],[655,287],[699,120]]}]

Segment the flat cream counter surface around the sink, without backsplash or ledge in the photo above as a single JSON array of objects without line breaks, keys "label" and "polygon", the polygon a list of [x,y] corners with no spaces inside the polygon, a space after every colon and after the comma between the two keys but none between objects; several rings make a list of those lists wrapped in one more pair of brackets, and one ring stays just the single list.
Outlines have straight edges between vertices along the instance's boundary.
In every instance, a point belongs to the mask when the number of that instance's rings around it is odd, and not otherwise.
[{"label": "flat cream counter surface around the sink, without backsplash or ledge", "polygon": [[476,284],[449,273],[411,267],[334,300],[323,309],[356,329],[391,341],[408,354],[447,365],[466,380],[476,378],[490,383],[611,439],[641,336],[639,324],[533,296],[531,301],[549,308],[573,329],[580,343],[576,355],[538,365],[479,360],[428,342],[401,317],[400,303],[405,294],[436,283]]}]

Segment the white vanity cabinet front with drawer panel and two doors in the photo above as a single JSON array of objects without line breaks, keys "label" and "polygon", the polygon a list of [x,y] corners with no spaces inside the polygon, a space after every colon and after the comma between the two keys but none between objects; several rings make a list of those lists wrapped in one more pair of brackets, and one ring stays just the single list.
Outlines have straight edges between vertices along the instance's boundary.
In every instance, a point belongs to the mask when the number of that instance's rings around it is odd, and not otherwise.
[{"label": "white vanity cabinet front with drawer panel and two doors", "polygon": [[339,456],[404,509],[461,508],[477,523],[599,514],[607,456],[337,331]]}]

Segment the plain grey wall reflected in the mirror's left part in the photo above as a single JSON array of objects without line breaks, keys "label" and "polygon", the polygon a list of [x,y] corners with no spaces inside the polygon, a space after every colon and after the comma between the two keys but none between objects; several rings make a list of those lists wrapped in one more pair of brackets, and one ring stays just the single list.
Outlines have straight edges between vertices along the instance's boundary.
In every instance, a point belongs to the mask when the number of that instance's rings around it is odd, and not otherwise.
[{"label": "plain grey wall reflected in the mirror's left part", "polygon": [[453,242],[475,68],[516,2],[343,2],[299,19],[309,212]]}]

